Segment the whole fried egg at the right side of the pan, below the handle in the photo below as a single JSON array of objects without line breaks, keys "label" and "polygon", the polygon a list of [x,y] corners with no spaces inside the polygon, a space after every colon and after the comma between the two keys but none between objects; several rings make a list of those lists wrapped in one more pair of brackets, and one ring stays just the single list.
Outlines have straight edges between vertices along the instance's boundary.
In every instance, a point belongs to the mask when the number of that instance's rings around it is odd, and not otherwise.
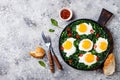
[{"label": "whole fried egg at the right side of the pan, below the handle", "polygon": [[99,37],[94,45],[94,49],[98,52],[104,52],[107,50],[108,47],[108,41],[105,38]]}]

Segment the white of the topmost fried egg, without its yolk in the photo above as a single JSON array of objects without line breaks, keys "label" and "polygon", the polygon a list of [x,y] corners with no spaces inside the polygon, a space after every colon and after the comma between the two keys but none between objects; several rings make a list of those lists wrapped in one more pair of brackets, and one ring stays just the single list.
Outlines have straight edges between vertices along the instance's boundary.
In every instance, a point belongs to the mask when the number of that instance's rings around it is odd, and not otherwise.
[{"label": "white of the topmost fried egg, without its yolk", "polygon": [[76,32],[79,34],[79,35],[83,35],[83,34],[86,34],[86,35],[89,35],[91,34],[90,30],[93,30],[92,28],[92,25],[89,23],[82,23],[82,24],[85,24],[87,26],[87,31],[86,32],[80,32],[78,29],[79,29],[79,25],[76,25]]}]

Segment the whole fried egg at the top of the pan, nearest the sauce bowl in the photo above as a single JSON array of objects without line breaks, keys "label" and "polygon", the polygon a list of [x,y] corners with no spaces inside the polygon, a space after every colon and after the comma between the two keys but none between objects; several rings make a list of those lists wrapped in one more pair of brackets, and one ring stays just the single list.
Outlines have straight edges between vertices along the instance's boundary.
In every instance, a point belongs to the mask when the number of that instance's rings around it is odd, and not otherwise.
[{"label": "whole fried egg at the top of the pan, nearest the sauce bowl", "polygon": [[83,35],[83,34],[89,35],[91,33],[94,33],[94,30],[93,30],[92,25],[90,23],[89,24],[81,23],[81,24],[76,26],[76,32],[79,35]]}]

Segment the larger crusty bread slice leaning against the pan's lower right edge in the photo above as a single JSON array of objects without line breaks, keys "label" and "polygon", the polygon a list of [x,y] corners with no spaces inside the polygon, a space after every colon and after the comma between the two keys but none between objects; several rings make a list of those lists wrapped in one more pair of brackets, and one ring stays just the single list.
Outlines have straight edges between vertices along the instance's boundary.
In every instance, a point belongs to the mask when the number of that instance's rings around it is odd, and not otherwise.
[{"label": "larger crusty bread slice leaning against the pan's lower right edge", "polygon": [[106,76],[112,75],[115,72],[115,56],[110,53],[104,62],[103,72]]}]

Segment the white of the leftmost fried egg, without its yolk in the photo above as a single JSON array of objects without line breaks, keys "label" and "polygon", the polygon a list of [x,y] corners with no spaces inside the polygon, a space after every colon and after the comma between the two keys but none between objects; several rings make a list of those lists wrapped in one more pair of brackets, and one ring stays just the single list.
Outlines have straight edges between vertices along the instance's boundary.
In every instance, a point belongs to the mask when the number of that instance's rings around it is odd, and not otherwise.
[{"label": "white of the leftmost fried egg, without its yolk", "polygon": [[[76,39],[74,39],[74,38],[68,38],[67,40],[72,43],[72,48],[69,49],[69,50],[64,49],[63,51],[66,53],[66,56],[69,57],[70,55],[74,54],[75,51],[76,51],[76,47],[75,47],[74,44],[73,44]],[[66,40],[66,41],[67,41],[67,40]],[[65,43],[65,42],[64,42],[64,43]],[[63,45],[64,45],[64,43],[63,43]],[[62,45],[62,46],[63,46],[63,45]]]}]

